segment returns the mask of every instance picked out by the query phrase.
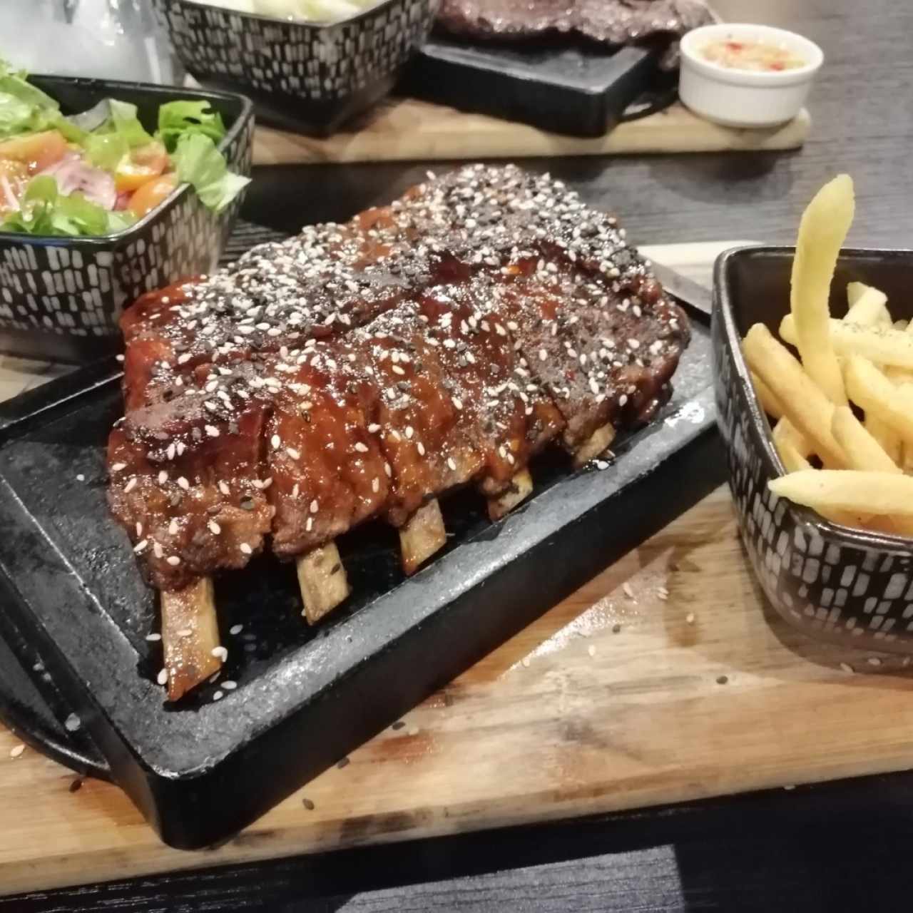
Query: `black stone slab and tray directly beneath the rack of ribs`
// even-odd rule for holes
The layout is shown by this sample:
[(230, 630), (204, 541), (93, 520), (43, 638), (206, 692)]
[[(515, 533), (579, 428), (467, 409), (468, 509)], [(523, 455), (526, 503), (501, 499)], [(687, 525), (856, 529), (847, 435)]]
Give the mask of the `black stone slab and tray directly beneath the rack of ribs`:
[(316, 629), (289, 565), (264, 557), (217, 582), (238, 682), (217, 703), (217, 684), (169, 706), (154, 683), (154, 594), (105, 501), (117, 362), (0, 406), (0, 659), (18, 661), (0, 665), (0, 712), (121, 785), (166, 843), (235, 833), (719, 484), (708, 313), (687, 308), (676, 394), (609, 467), (543, 456), (533, 497), (495, 524), (471, 494), (445, 498), (446, 550), (409, 580), (392, 530), (354, 530), (339, 540), (352, 598)]

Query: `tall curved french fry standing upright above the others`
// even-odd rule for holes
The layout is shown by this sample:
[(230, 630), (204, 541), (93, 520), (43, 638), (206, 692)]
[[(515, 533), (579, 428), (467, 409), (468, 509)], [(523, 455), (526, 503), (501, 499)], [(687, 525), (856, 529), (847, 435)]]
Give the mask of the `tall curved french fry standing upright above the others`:
[(805, 208), (792, 260), (790, 310), (796, 347), (809, 377), (837, 405), (846, 404), (846, 394), (828, 329), (828, 299), (854, 209), (853, 181), (848, 174), (824, 184)]

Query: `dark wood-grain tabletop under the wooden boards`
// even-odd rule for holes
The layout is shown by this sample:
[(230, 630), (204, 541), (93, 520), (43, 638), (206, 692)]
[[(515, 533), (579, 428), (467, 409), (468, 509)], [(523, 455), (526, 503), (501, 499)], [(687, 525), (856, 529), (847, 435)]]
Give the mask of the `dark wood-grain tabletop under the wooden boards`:
[[(803, 206), (853, 175), (858, 246), (913, 244), (913, 4), (718, 0), (729, 21), (813, 38), (826, 64), (795, 153), (533, 161), (624, 215), (640, 243), (792, 240)], [(245, 215), (344, 218), (425, 166), (260, 169)], [(913, 283), (911, 283), (913, 285)], [(913, 290), (911, 290), (913, 293)], [(0, 812), (2, 821), (2, 812)], [(879, 910), (908, 907), (913, 776), (767, 792), (599, 820), (0, 899), (0, 911)]]

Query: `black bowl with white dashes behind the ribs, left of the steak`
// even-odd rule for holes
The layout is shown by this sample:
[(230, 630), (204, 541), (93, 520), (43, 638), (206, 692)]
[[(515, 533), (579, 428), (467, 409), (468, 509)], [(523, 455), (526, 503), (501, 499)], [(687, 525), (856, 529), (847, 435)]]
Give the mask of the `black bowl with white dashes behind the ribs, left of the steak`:
[(194, 0), (155, 0), (184, 68), (206, 85), (244, 92), (257, 118), (328, 135), (393, 89), (431, 33), (440, 0), (383, 0), (320, 24), (239, 13)]

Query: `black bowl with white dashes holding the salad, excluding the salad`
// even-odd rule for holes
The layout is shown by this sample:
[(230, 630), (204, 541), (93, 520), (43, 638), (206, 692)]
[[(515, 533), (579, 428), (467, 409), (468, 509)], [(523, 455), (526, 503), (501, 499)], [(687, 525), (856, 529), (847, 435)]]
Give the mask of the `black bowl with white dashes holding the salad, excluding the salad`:
[[(110, 79), (31, 78), (64, 113), (115, 98), (138, 108), (154, 131), (159, 106), (205, 100), (225, 121), (229, 167), (249, 174), (253, 106), (239, 95)], [(81, 362), (120, 344), (121, 312), (144, 292), (215, 267), (244, 194), (216, 215), (187, 184), (127, 231), (105, 237), (0, 232), (0, 352)]]

